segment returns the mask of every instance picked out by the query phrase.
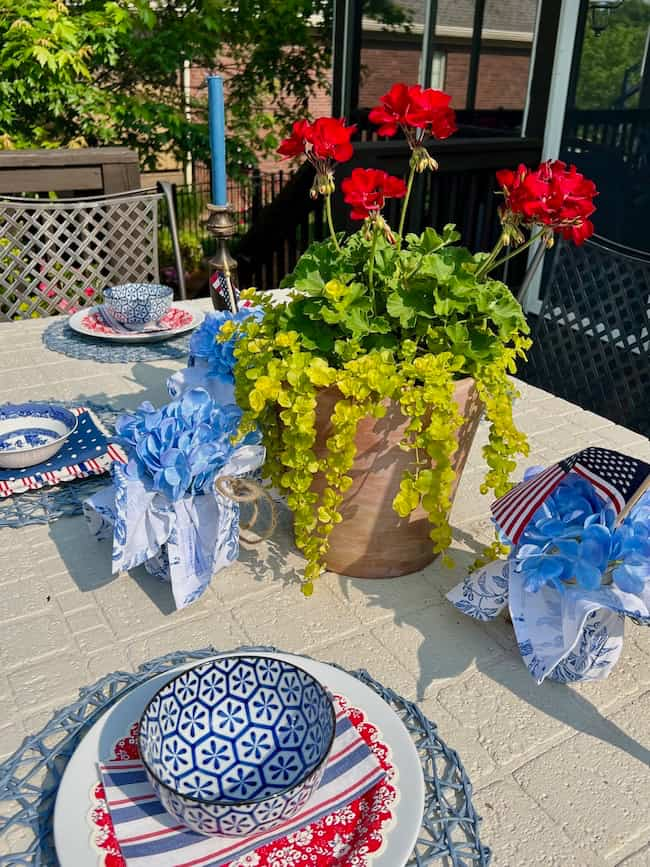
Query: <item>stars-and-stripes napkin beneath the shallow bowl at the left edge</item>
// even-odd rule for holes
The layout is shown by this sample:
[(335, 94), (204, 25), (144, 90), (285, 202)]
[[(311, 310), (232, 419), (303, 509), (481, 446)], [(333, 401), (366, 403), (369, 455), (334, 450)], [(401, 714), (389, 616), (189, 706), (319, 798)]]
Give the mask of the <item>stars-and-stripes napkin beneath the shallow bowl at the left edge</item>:
[[(73, 434), (68, 441), (70, 448), (66, 451), (66, 446), (68, 445), (66, 444), (62, 449), (64, 455), (67, 452), (74, 454), (72, 449), (75, 445), (78, 446), (81, 451), (81, 449), (83, 449), (84, 436), (87, 438), (89, 434), (95, 432), (98, 435), (98, 439), (100, 435), (104, 438), (107, 436), (97, 419), (86, 409), (86, 407), (73, 407), (71, 411), (74, 412), (76, 416), (80, 417), (80, 426), (77, 429), (77, 432)], [(84, 428), (87, 429), (87, 433), (85, 434)], [(74, 437), (77, 436), (79, 437), (79, 440), (74, 439)], [(57, 455), (52, 458), (51, 461), (48, 461), (46, 466), (50, 463), (55, 464), (55, 466), (52, 466), (49, 470), (45, 469), (42, 465), (38, 465), (30, 467), (29, 470), (24, 470), (23, 472), (20, 470), (1, 471), (0, 498), (10, 497), (13, 494), (22, 494), (25, 491), (36, 491), (39, 488), (58, 485), (61, 482), (69, 482), (75, 479), (86, 479), (89, 476), (101, 475), (110, 470), (114, 461), (126, 463), (125, 453), (118, 445), (111, 442), (106, 443), (101, 453), (97, 456), (92, 458), (86, 457), (84, 460), (79, 460), (77, 463), (61, 464), (60, 461), (57, 460), (58, 457), (59, 456)]]

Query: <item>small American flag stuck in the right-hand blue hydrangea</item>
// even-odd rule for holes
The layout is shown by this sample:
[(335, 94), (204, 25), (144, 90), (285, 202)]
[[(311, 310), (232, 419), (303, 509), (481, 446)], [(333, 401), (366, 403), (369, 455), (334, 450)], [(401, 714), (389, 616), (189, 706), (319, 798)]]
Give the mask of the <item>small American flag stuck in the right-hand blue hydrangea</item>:
[(650, 480), (650, 464), (611, 449), (588, 448), (570, 455), (543, 472), (521, 482), (492, 503), (497, 526), (516, 545), (526, 525), (544, 500), (569, 473), (577, 473), (596, 489), (617, 515)]

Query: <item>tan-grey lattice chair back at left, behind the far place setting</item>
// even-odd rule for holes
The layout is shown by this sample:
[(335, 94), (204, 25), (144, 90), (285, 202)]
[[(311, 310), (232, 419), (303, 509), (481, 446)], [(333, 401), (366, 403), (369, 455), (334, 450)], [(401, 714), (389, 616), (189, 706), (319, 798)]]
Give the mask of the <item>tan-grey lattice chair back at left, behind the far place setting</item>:
[(168, 191), (56, 201), (0, 197), (0, 321), (69, 313), (106, 286), (157, 283), (158, 208), (168, 200), (177, 272), (182, 263)]

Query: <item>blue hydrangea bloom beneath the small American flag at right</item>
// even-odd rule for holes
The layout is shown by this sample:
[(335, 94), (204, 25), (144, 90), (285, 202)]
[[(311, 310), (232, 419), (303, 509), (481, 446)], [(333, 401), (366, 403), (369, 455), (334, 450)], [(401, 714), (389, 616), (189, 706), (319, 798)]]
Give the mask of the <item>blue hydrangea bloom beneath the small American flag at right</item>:
[[(536, 470), (529, 471), (530, 478)], [(533, 515), (511, 554), (526, 590), (567, 582), (596, 590), (605, 576), (620, 590), (639, 593), (650, 580), (650, 494), (619, 527), (614, 510), (594, 487), (568, 475)]]

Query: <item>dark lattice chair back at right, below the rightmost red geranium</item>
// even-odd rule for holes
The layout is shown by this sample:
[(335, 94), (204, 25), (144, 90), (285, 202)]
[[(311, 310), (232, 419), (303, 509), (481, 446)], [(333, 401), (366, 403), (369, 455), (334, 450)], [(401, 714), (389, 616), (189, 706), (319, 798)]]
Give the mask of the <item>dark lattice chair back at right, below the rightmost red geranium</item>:
[(522, 378), (650, 435), (650, 254), (559, 243)]

